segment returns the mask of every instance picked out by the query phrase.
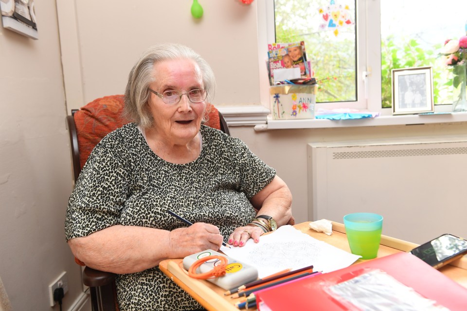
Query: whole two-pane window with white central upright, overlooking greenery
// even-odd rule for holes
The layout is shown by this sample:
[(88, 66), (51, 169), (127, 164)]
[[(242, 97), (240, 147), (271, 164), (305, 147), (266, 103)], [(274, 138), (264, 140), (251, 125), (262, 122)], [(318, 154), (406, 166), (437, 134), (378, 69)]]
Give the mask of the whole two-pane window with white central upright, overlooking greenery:
[[(341, 28), (339, 35), (319, 30), (323, 21), (319, 9), (331, 2), (349, 7), (354, 27)], [(466, 35), (467, 1), (266, 3), (268, 43), (305, 41), (307, 58), (321, 85), (318, 108), (348, 107), (390, 115), (391, 109), (382, 108), (390, 107), (392, 102), (391, 69), (422, 66), (433, 67), (435, 104), (452, 103), (452, 73), (439, 49), (446, 39)], [(450, 105), (443, 106), (450, 111)], [(441, 105), (438, 108), (443, 109)]]

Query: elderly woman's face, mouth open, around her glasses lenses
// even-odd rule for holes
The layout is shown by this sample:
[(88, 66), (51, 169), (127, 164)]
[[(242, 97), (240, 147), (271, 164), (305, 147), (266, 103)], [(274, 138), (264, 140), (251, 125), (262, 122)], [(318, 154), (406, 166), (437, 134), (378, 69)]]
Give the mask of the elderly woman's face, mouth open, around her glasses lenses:
[[(162, 94), (165, 91), (188, 93), (204, 88), (198, 65), (189, 59), (166, 60), (154, 65), (154, 81), (149, 88)], [(182, 95), (177, 104), (165, 104), (156, 94), (149, 92), (147, 104), (154, 118), (153, 130), (163, 141), (176, 145), (187, 144), (199, 131), (206, 102), (194, 104)]]

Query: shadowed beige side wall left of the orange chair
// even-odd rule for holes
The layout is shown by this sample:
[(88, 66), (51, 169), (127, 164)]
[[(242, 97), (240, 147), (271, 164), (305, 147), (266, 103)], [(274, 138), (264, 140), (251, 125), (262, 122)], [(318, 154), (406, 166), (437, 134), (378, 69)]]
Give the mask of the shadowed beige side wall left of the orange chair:
[(0, 27), (0, 277), (13, 310), (59, 310), (48, 286), (67, 271), (70, 310), (82, 287), (63, 229), (72, 173), (55, 2), (36, 1), (36, 17), (38, 40)]

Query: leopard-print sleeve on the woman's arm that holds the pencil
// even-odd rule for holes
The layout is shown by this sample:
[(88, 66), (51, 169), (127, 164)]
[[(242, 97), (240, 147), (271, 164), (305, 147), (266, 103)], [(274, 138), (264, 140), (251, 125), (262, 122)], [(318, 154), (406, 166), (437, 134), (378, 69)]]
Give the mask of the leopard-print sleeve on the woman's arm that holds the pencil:
[(88, 158), (68, 202), (67, 241), (119, 223), (129, 174), (116, 154), (101, 141)]

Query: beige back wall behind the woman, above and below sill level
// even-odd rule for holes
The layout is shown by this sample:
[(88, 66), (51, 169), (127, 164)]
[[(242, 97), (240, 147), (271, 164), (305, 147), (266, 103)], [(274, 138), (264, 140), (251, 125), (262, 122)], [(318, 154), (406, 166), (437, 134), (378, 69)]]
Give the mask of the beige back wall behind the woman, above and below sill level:
[[(64, 54), (67, 99), (82, 91), (81, 102), (70, 98), (68, 109), (77, 108), (94, 98), (122, 93), (126, 77), (144, 49), (158, 42), (180, 42), (198, 51), (213, 67), (217, 90), (216, 105), (259, 103), (260, 66), (257, 52), (257, 23), (260, 1), (242, 5), (239, 0), (204, 0), (204, 16), (190, 15), (191, 1), (59, 1), (64, 20), (76, 19), (76, 30), (65, 30), (60, 22)], [(92, 7), (92, 10), (89, 8)], [(106, 17), (106, 18), (104, 18)], [(105, 20), (105, 22), (103, 22)], [(67, 27), (69, 25), (67, 24)], [(260, 40), (261, 39), (261, 40)], [(79, 62), (76, 61), (76, 55)], [(69, 57), (69, 58), (68, 58)], [(266, 55), (265, 55), (266, 58)], [(80, 63), (80, 66), (77, 64)], [(73, 68), (74, 66), (74, 68)], [(67, 83), (82, 77), (82, 84)], [(71, 85), (70, 91), (68, 87)], [(231, 127), (231, 134), (248, 143), (251, 150), (273, 166), (293, 194), (293, 214), (298, 222), (308, 215), (306, 145), (310, 141), (381, 139), (398, 136), (456, 135), (465, 133), (466, 123), (410, 126), (351, 127), (328, 129), (289, 129), (255, 132), (250, 126)]]

